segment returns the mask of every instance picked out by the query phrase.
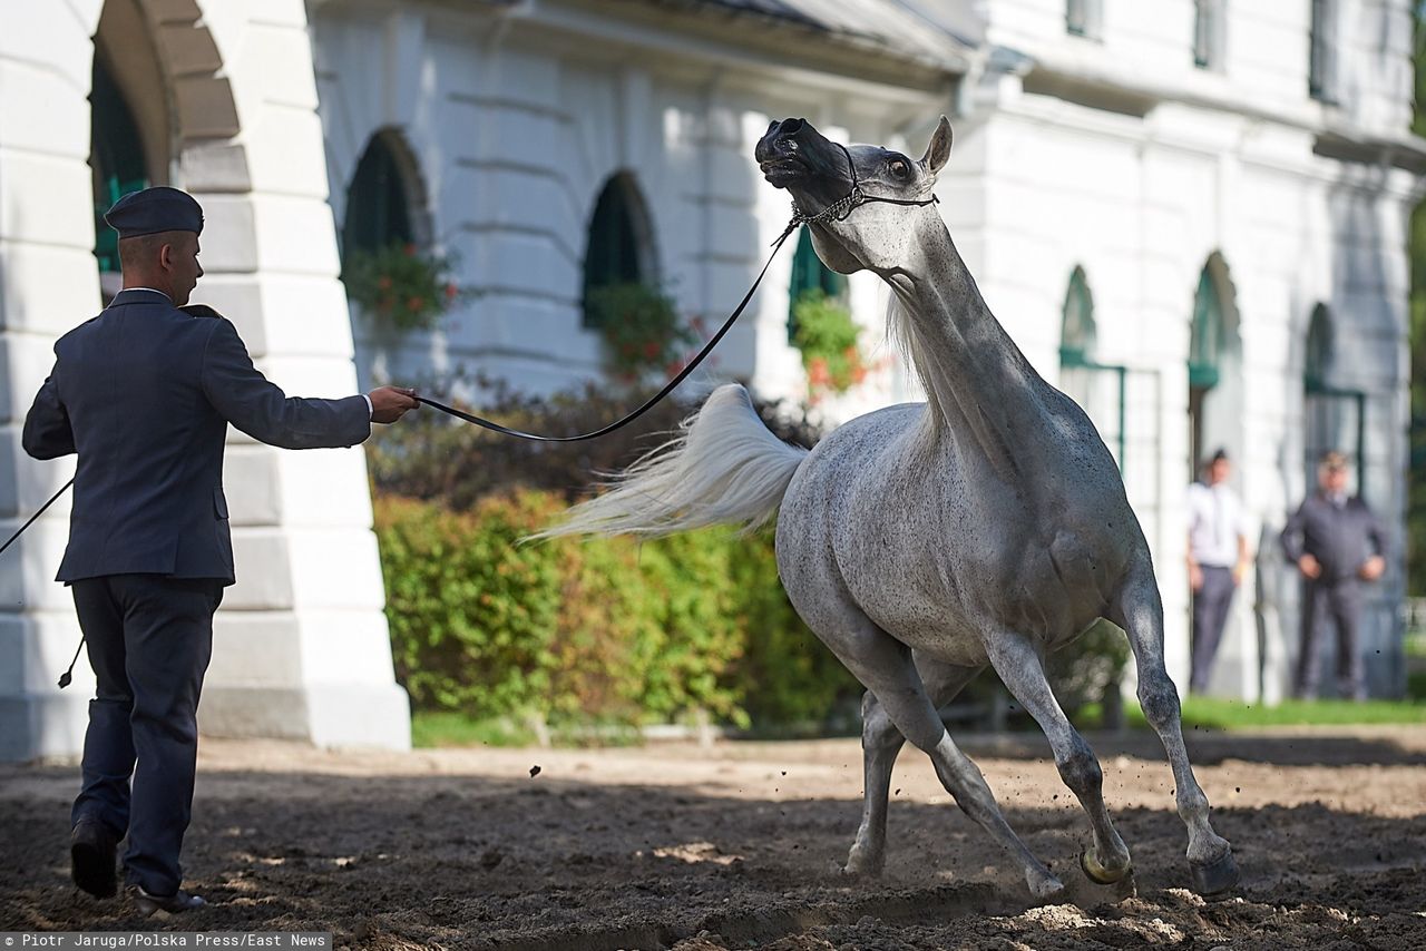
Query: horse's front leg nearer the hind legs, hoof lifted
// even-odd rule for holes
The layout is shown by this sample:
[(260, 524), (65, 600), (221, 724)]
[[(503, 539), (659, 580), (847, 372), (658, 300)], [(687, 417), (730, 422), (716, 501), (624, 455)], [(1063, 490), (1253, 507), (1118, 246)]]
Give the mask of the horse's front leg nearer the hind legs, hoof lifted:
[(1129, 850), (1114, 830), (1109, 810), (1104, 807), (1104, 773), (1094, 750), (1070, 724), (1070, 717), (1055, 700), (1040, 654), (1021, 634), (992, 634), (987, 639), (985, 649), (1005, 687), (1045, 731), (1060, 778), (1089, 817), (1094, 848), (1085, 850), (1079, 857), (1085, 874), (1102, 885), (1119, 881), (1129, 873)]

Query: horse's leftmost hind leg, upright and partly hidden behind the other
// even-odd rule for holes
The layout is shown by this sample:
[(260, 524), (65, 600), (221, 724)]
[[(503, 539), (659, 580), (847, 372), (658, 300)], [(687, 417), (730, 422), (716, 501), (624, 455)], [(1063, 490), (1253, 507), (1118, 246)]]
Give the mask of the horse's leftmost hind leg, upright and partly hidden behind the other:
[[(955, 699), (980, 667), (960, 667), (915, 653), (915, 670), (931, 703), (940, 710)], [(861, 767), (864, 778), (861, 827), (847, 854), (847, 871), (874, 875), (886, 864), (887, 798), (891, 793), (891, 767), (906, 737), (891, 723), (886, 707), (867, 690), (861, 697)]]

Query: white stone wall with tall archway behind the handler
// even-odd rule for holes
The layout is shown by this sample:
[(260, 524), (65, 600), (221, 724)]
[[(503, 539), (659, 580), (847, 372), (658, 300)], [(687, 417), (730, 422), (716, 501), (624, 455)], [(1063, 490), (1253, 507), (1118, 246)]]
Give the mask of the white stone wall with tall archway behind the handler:
[[(0, 40), (0, 530), (71, 471), (24, 456), (19, 426), (54, 338), (100, 308), (86, 101), (100, 9), (39, 4)], [(144, 9), (181, 137), (174, 184), (207, 217), (195, 299), (232, 319), (288, 392), (356, 392), (301, 0)], [(230, 431), (225, 485), (240, 580), (215, 619), (201, 729), (408, 747), (361, 449), (278, 452)], [(93, 676), (81, 662), (68, 690), (53, 686), (78, 642), (51, 580), (66, 536), (61, 503), (0, 566), (0, 759), (83, 741)]]

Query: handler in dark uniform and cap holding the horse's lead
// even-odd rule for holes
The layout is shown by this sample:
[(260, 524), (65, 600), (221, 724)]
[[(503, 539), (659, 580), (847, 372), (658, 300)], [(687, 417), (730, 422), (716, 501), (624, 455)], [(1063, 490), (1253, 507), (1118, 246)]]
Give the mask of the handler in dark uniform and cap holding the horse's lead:
[(195, 710), (212, 612), (234, 580), (228, 423), (288, 449), (351, 446), (372, 421), (395, 422), (416, 401), (392, 386), (298, 399), (268, 382), (232, 324), (184, 307), (202, 277), (202, 210), (183, 191), (125, 195), (106, 221), (120, 235), (124, 289), (54, 345), (23, 441), (37, 459), (78, 453), (57, 580), (73, 589), (97, 694), (71, 811), (74, 881), (113, 895), (116, 843), (127, 833), (125, 878), (140, 911), (184, 911), (204, 904), (180, 888), (178, 864)]

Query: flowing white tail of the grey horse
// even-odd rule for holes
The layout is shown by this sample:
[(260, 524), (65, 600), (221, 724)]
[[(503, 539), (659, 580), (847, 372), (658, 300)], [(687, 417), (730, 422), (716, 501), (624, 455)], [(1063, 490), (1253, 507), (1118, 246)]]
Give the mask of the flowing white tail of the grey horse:
[(706, 525), (767, 522), (807, 451), (774, 436), (747, 391), (719, 386), (683, 433), (615, 475), (603, 495), (568, 512), (533, 538), (556, 535), (673, 535)]

